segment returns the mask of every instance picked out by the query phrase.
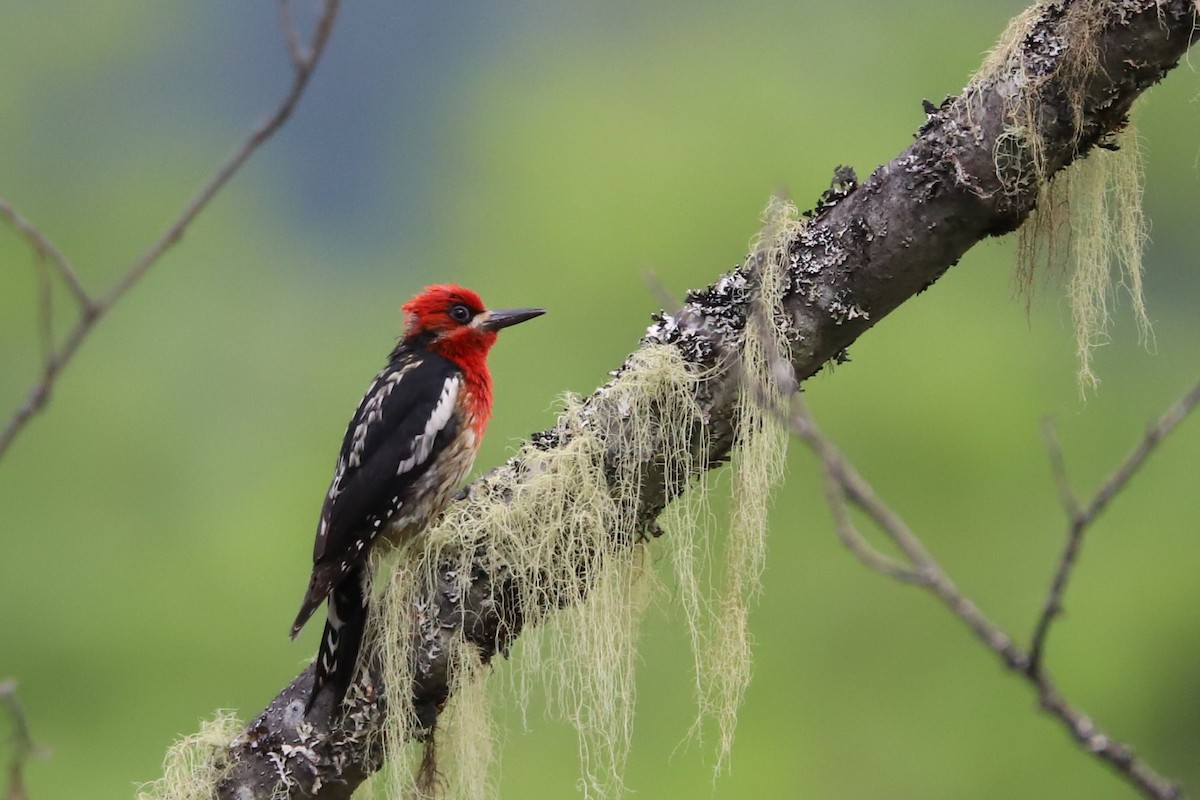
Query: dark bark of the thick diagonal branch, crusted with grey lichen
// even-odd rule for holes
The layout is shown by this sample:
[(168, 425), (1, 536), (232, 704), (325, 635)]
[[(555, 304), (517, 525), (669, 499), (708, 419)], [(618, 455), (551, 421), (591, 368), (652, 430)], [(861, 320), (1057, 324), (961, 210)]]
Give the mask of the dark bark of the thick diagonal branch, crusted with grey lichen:
[[(1088, 23), (1080, 25), (1079, 14), (1072, 12), (1084, 6)], [(1193, 0), (1038, 6), (1025, 19), (1016, 44), (1022, 52), (1019, 71), (1008, 60), (989, 64), (971, 91), (928, 107), (916, 142), (864, 184), (840, 170), (811, 218), (790, 231), (786, 242), (782, 308), (790, 318), (797, 377), (803, 380), (838, 357), (866, 329), (929, 288), (973, 245), (1020, 227), (1045, 182), (1120, 131), (1134, 100), (1176, 65), (1192, 43), (1196, 13)], [(1096, 58), (1070, 56), (1082, 52)], [(1038, 80), (1030, 82), (1030, 71)], [(1022, 119), (1037, 131), (1025, 140), (1037, 142), (1037, 152), (1022, 150), (1021, 139), (1012, 136), (1012, 97), (1028, 86), (1033, 89), (1022, 97)], [(1004, 164), (1009, 172), (997, 170), (1001, 151), (1015, 163), (1036, 164), (1034, 178), (1013, 181), (1012, 161)], [(706, 465), (727, 461), (737, 438), (738, 371), (727, 368), (725, 359), (739, 351), (757, 302), (756, 261), (751, 258), (707, 289), (691, 293), (683, 308), (664, 315), (643, 339), (643, 348), (673, 348), (695, 374), (704, 377), (696, 384), (698, 411), (686, 438), (703, 451), (698, 455)], [(584, 429), (601, 432), (610, 447), (619, 446), (623, 410), (616, 393), (613, 384), (596, 390), (577, 411), (583, 428), (535, 434), (524, 452), (560, 452)], [(637, 458), (643, 469), (630, 512), (652, 530), (684, 487), (673, 480), (664, 453), (637, 453)], [(620, 452), (605, 456), (610, 464), (629, 459)], [(472, 497), (512, 497), (536, 477), (545, 461), (514, 459), (478, 481)], [(612, 489), (620, 493), (629, 487), (614, 475)], [(515, 585), (511, 576), (493, 575), (486, 552), (461, 557), (445, 560), (428, 578), (422, 610), (415, 615), (418, 728), (432, 727), (450, 696), (451, 667), (462, 652), (454, 643), (466, 639), (480, 660), (488, 661), (521, 633), (533, 610), (521, 607), (520, 599), (530, 596), (528, 588)], [(580, 599), (545, 600), (568, 604)], [(301, 673), (234, 740), (226, 752), (221, 798), (347, 798), (379, 768), (383, 751), (377, 734), (385, 711), (378, 694), (359, 693), (336, 726), (310, 724), (301, 709), (311, 680), (310, 670)]]

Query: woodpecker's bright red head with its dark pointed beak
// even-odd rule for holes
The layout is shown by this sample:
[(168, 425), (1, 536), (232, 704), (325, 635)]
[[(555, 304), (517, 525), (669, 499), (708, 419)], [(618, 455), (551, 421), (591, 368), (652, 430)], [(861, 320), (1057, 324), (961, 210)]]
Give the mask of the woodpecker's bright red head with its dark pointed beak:
[(466, 371), (486, 369), (487, 351), (502, 327), (546, 313), (545, 308), (488, 311), (470, 289), (427, 287), (404, 303), (404, 343), (420, 344)]

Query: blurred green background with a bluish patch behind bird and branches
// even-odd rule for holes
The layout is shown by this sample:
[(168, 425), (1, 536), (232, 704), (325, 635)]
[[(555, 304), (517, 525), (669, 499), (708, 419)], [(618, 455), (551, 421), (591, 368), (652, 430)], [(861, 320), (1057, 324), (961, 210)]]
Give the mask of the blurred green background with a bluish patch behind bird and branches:
[[(673, 293), (732, 266), (772, 192), (902, 149), (1021, 2), (346, 4), (295, 119), (88, 341), (0, 461), (0, 678), (36, 800), (128, 798), (214, 709), (253, 716), (316, 648), (287, 638), (348, 419), (428, 282), (551, 313), (505, 335), (479, 468), (547, 426)], [(312, 4), (300, 2), (311, 12)], [(0, 197), (92, 290), (281, 95), (276, 5), (7, 0)], [(1013, 296), (985, 242), (808, 384), (820, 422), (997, 622), (1027, 640), (1064, 534), (1039, 439), (1091, 491), (1200, 377), (1194, 70), (1142, 101), (1147, 353), (1122, 297), (1075, 384), (1061, 287)], [(38, 369), (28, 248), (0, 230), (0, 409)], [(65, 330), (68, 300), (59, 294)], [(1069, 698), (1200, 790), (1200, 425), (1096, 527), (1050, 642)], [(930, 597), (860, 567), (799, 446), (751, 621), (732, 770), (679, 746), (680, 612), (646, 620), (635, 796), (1130, 798)], [(662, 560), (662, 559), (660, 559)], [(664, 564), (664, 573), (667, 565)], [(500, 664), (499, 670), (509, 669)], [(502, 705), (504, 796), (576, 795), (574, 734)], [(2, 727), (0, 727), (2, 730)]]

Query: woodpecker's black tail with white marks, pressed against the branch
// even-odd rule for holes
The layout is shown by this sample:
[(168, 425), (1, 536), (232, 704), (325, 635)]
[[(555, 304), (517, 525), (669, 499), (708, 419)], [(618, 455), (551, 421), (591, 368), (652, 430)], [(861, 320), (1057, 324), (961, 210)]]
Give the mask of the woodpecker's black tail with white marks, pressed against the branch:
[(331, 708), (336, 711), (354, 680), (354, 667), (367, 625), (365, 579), (366, 567), (359, 564), (346, 573), (329, 595), (329, 615), (325, 619), (325, 631), (320, 634), (312, 693), (308, 694), (305, 714), (312, 710), (317, 696), (326, 687), (334, 693)]

